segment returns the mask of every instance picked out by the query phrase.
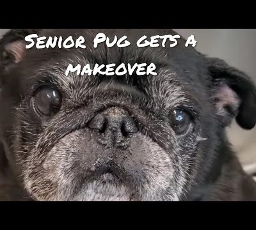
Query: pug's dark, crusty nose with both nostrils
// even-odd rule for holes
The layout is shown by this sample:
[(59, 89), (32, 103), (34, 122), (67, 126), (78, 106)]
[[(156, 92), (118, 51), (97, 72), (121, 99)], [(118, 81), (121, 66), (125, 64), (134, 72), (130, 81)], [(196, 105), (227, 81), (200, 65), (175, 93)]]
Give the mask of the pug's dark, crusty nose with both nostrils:
[(89, 123), (88, 127), (98, 130), (102, 134), (113, 137), (115, 144), (125, 140), (125, 137), (136, 134), (136, 123), (124, 109), (112, 107), (97, 114)]

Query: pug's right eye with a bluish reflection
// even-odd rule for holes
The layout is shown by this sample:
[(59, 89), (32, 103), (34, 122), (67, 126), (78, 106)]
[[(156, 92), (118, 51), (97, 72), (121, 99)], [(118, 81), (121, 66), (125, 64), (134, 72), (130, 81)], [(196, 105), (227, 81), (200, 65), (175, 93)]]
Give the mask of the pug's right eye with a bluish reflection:
[(177, 135), (184, 134), (191, 123), (191, 115), (183, 109), (175, 109), (169, 114), (170, 123)]

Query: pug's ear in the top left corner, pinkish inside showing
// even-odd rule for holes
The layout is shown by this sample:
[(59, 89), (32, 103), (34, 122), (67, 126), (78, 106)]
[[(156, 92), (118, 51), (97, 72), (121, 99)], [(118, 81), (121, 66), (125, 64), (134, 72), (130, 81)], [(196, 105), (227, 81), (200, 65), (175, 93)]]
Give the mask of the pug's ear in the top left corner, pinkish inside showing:
[(11, 29), (0, 40), (0, 68), (6, 71), (22, 61), (26, 44), (24, 38), (40, 29)]

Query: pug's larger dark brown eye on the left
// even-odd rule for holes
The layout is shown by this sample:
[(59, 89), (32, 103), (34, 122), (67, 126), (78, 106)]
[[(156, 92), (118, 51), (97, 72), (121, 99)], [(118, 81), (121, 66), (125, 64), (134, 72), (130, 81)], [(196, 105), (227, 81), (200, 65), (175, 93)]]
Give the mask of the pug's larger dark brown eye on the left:
[(33, 97), (35, 111), (40, 116), (52, 116), (61, 106), (61, 94), (57, 89), (44, 86)]

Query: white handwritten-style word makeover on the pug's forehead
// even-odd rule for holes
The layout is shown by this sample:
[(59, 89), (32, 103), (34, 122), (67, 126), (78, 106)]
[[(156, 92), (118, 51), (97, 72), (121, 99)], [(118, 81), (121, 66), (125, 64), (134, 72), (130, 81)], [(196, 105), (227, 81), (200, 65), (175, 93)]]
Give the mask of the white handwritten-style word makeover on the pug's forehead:
[(127, 64), (125, 65), (122, 63), (121, 65), (116, 66), (115, 63), (109, 64), (109, 65), (99, 65), (95, 64), (93, 68), (91, 68), (90, 64), (86, 64), (85, 66), (82, 66), (78, 64), (77, 66), (73, 66), (72, 64), (68, 65), (68, 68), (65, 72), (66, 76), (70, 72), (74, 73), (76, 72), (77, 75), (83, 76), (84, 74), (86, 75), (107, 75), (107, 76), (113, 76), (113, 75), (125, 75), (129, 74), (132, 75), (133, 73), (136, 72), (136, 75), (157, 75), (156, 72), (156, 65), (154, 63), (150, 63), (150, 65), (147, 65), (146, 63), (135, 63), (134, 65)]

